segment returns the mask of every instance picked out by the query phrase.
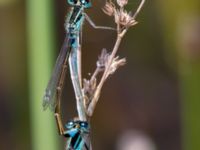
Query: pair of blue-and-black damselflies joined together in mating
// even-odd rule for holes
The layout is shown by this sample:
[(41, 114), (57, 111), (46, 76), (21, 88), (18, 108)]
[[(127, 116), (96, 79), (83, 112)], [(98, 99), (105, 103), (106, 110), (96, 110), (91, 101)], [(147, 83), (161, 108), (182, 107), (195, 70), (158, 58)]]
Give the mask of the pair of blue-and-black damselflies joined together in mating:
[[(81, 87), (81, 34), (83, 21), (86, 19), (94, 28), (111, 29), (110, 27), (96, 26), (84, 9), (91, 7), (90, 0), (67, 0), (71, 10), (67, 16), (65, 29), (66, 37), (62, 45), (60, 54), (48, 83), (43, 98), (44, 109), (50, 108), (54, 111), (59, 133), (67, 137), (66, 150), (91, 150), (89, 138), (90, 127), (84, 111), (83, 94)], [(75, 91), (78, 120), (70, 121), (64, 128), (61, 120), (61, 94), (69, 64), (71, 80)]]

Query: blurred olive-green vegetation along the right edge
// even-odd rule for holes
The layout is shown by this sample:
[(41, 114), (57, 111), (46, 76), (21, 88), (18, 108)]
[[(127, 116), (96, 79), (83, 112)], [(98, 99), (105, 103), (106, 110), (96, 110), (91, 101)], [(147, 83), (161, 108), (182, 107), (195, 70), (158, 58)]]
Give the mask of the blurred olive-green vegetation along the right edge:
[(179, 70), (182, 149), (197, 150), (200, 149), (200, 38), (197, 36), (200, 35), (200, 1), (158, 2), (164, 23), (167, 60), (173, 62), (171, 66), (177, 62)]

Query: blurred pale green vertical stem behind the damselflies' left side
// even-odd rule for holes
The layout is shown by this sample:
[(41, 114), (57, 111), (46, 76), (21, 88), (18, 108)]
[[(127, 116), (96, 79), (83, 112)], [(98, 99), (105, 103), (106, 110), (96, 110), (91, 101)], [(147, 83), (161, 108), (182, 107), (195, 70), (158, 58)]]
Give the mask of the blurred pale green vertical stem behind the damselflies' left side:
[(29, 91), (33, 150), (56, 150), (53, 114), (42, 109), (42, 97), (51, 73), (55, 50), (53, 0), (27, 1)]

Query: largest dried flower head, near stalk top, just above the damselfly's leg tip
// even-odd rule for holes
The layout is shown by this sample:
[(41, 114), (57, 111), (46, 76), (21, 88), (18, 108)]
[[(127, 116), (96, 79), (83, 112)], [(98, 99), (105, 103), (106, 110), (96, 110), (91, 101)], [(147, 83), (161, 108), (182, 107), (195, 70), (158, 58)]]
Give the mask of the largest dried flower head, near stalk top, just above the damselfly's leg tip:
[(126, 10), (116, 11), (115, 22), (125, 27), (130, 27), (137, 24), (137, 21)]

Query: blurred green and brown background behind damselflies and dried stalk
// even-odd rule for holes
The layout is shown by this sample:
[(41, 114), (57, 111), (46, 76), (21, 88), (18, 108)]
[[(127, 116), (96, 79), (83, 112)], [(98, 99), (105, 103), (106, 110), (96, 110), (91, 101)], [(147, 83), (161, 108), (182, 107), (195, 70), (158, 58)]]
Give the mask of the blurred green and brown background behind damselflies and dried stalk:
[[(105, 0), (87, 10), (114, 26)], [(139, 1), (129, 0), (128, 10)], [(0, 0), (0, 149), (64, 149), (42, 95), (65, 35), (65, 0)], [(200, 150), (200, 1), (147, 0), (119, 50), (127, 64), (105, 84), (91, 120), (95, 150)], [(83, 31), (83, 74), (89, 77), (115, 33)], [(69, 75), (63, 120), (76, 115)]]

